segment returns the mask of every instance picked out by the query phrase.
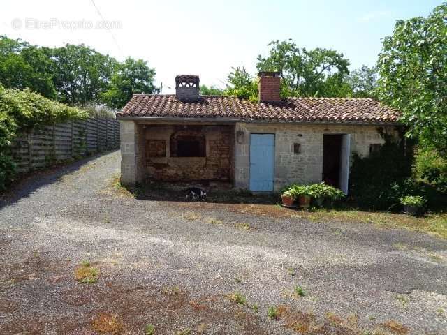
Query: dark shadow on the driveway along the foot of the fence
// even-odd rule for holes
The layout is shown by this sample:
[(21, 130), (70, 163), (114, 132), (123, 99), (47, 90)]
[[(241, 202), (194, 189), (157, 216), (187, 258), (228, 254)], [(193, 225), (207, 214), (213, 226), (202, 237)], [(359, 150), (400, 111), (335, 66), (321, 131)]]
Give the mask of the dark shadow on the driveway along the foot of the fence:
[(36, 170), (19, 174), (13, 186), (11, 186), (7, 191), (0, 193), (0, 209), (29, 196), (34, 191), (38, 190), (38, 188), (56, 183), (64, 175), (75, 172), (82, 168), (83, 165), (94, 161), (101, 156), (108, 155), (111, 152), (114, 151), (104, 151), (100, 154), (82, 158), (73, 163), (65, 163), (52, 166), (45, 170)]

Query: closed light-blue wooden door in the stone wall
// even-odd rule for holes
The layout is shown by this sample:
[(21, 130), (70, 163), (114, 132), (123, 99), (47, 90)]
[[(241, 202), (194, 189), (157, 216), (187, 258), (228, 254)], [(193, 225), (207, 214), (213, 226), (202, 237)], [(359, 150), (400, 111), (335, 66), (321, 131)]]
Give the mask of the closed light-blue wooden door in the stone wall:
[(273, 191), (274, 134), (250, 135), (250, 190)]

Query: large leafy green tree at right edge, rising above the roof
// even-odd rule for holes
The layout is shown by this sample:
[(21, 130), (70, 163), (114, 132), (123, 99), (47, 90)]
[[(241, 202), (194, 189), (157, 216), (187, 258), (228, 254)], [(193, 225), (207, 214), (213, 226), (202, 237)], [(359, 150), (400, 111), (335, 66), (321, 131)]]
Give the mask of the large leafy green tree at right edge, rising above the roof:
[(447, 3), (398, 21), (379, 54), (381, 100), (403, 112), (407, 135), (447, 154)]

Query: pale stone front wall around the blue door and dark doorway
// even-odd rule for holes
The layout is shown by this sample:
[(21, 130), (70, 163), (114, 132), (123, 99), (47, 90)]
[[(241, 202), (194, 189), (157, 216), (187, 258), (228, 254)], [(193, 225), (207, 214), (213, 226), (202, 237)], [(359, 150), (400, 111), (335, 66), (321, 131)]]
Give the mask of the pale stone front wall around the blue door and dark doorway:
[[(383, 144), (376, 126), (315, 124), (235, 125), (235, 187), (249, 187), (250, 133), (273, 133), (274, 190), (292, 182), (321, 181), (323, 173), (323, 135), (351, 134), (351, 154), (369, 155), (369, 144)], [(294, 144), (300, 144), (295, 153)]]

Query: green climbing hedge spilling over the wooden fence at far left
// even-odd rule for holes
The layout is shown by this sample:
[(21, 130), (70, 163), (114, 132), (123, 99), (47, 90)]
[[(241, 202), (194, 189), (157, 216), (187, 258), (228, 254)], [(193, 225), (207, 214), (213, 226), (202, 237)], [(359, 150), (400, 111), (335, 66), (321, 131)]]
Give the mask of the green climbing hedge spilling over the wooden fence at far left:
[(0, 86), (0, 190), (15, 178), (10, 144), (17, 134), (45, 124), (85, 117), (86, 112), (44, 98), (29, 89), (21, 91)]

